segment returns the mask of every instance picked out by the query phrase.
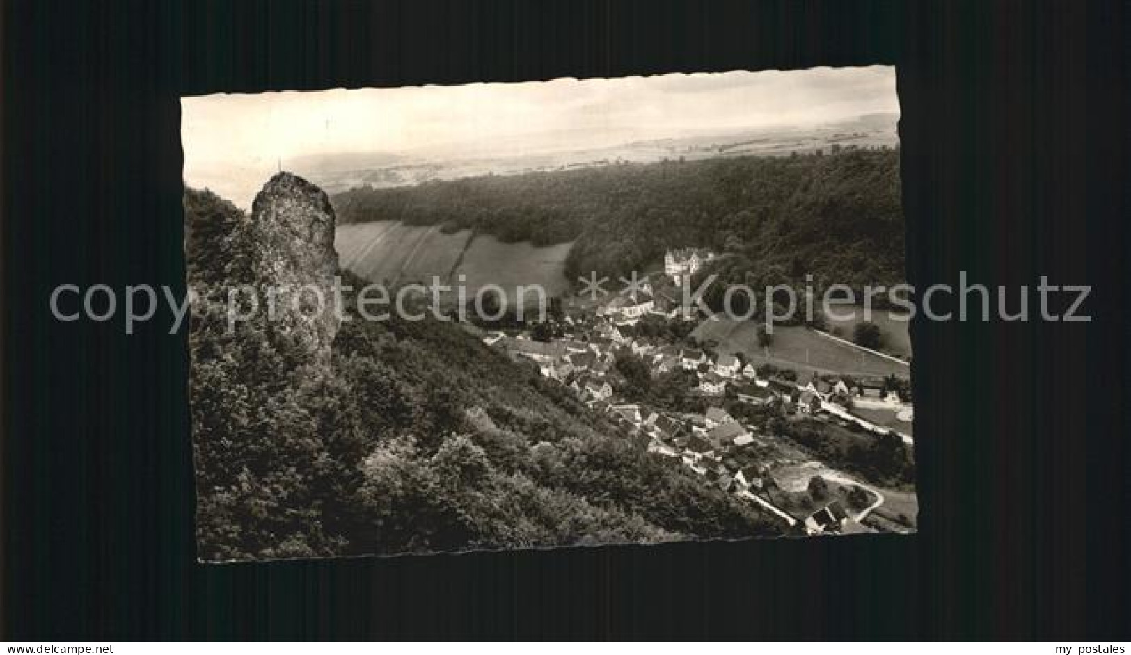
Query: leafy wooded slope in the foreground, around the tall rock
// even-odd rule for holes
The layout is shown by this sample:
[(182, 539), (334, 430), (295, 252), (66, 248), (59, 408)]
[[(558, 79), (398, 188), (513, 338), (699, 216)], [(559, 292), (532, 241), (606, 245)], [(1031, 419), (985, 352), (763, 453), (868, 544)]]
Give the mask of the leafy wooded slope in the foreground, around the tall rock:
[(279, 253), (210, 192), (184, 206), (202, 559), (778, 532), (457, 325), (345, 320), (325, 356), (266, 320), (227, 333), (225, 285)]

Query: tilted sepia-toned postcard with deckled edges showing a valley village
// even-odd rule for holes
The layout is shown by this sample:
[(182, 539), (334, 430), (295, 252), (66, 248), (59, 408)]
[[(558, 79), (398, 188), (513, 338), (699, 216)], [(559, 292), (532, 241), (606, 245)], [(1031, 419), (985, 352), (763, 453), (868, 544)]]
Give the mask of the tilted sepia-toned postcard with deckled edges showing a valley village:
[(916, 530), (893, 68), (181, 105), (201, 560)]

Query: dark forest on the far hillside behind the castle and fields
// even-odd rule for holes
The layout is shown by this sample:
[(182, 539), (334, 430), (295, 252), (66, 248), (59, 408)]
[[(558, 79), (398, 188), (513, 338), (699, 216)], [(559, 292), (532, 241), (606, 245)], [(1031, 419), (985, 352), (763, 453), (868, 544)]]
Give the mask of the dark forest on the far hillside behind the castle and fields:
[(340, 220), (470, 228), (537, 245), (578, 239), (567, 278), (623, 274), (667, 248), (733, 255), (722, 276), (756, 289), (903, 282), (898, 150), (845, 149), (361, 187), (334, 198)]

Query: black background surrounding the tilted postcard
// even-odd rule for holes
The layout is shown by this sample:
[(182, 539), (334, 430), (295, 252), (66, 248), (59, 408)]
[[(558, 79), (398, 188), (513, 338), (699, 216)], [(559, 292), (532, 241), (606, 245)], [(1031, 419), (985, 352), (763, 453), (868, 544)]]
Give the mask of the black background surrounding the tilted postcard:
[[(1126, 5), (57, 2), (3, 11), (9, 639), (1128, 638)], [(200, 566), (184, 335), (58, 283), (183, 291), (179, 104), (896, 63), (909, 279), (1095, 285), (1089, 324), (918, 324), (912, 538)]]

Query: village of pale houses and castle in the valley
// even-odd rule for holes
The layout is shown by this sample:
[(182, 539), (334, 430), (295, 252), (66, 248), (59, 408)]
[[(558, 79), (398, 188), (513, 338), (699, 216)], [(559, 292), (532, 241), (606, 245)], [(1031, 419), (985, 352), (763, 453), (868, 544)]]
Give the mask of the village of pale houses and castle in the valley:
[[(702, 248), (670, 251), (663, 279), (679, 285), (713, 256)], [(914, 515), (908, 514), (917, 506), (899, 513), (898, 519), (877, 512), (886, 498), (909, 497), (914, 503), (914, 492), (878, 489), (772, 434), (775, 426), (789, 425), (783, 421), (808, 420), (874, 439), (893, 435), (910, 447), (909, 434), (856, 413), (891, 412), (909, 425), (913, 404), (906, 381), (798, 376), (788, 368), (756, 366), (742, 352), (719, 352), (688, 337), (646, 334), (655, 331), (639, 329), (641, 323), (680, 321), (679, 312), (670, 295), (647, 280), (633, 291), (601, 304), (570, 303), (552, 331), (497, 330), (483, 333), (482, 340), (518, 361), (533, 363), (542, 376), (570, 388), (649, 452), (758, 504), (791, 534), (914, 529)], [(649, 378), (680, 381), (680, 407), (661, 407), (633, 393), (625, 360), (642, 363)]]

